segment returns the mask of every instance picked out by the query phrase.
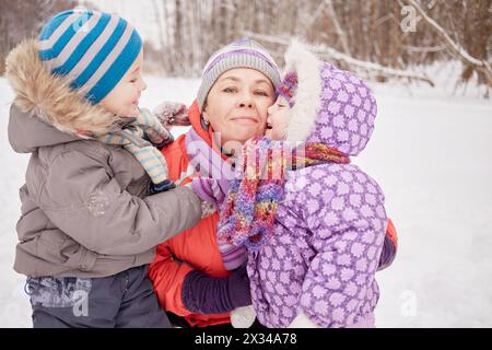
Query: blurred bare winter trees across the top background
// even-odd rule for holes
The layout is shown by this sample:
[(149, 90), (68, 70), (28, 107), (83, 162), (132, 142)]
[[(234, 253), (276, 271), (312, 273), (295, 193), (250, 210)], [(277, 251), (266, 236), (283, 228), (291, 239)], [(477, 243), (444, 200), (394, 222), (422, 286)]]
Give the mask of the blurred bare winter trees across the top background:
[[(385, 72), (370, 74), (379, 81), (406, 80), (411, 70), (420, 71), (419, 80), (426, 81), (422, 75), (426, 66), (457, 59), (450, 42), (470, 57), (491, 62), (492, 0), (413, 2), (440, 30), (408, 0), (141, 0), (136, 5), (145, 7), (145, 1), (149, 23), (156, 28), (155, 37), (148, 39), (161, 50), (151, 56), (168, 75), (199, 75), (215, 49), (251, 33), (280, 38), (262, 42), (280, 66), (285, 40), (297, 36), (342, 54), (331, 57), (342, 57), (333, 59), (344, 69), (354, 69), (351, 65), (356, 62), (355, 67)], [(0, 0), (0, 72), (15, 43), (36, 33), (50, 14), (75, 3)], [(83, 3), (90, 7), (87, 1)], [(131, 9), (133, 4), (126, 5)], [(410, 30), (403, 24), (411, 24)], [(478, 83), (490, 83), (483, 69), (461, 61), (464, 81), (477, 74)]]

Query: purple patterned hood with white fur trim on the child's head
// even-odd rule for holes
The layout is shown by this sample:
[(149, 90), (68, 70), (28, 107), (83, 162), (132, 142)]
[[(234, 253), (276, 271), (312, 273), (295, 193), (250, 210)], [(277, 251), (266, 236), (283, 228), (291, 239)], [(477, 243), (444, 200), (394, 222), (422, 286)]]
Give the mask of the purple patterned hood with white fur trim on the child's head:
[(353, 73), (319, 60), (298, 42), (285, 52), (284, 72), (296, 72), (298, 82), (286, 140), (321, 142), (358, 155), (371, 138), (377, 113), (370, 88)]

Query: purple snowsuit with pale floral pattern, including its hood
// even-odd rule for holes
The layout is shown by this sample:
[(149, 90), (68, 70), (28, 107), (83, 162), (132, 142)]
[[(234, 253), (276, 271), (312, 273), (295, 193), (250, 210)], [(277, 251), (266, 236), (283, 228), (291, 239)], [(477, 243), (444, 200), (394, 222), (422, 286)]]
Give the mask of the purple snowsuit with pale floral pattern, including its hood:
[[(326, 62), (318, 68), (317, 89), (297, 71), (293, 119), (312, 124), (305, 141), (355, 156), (374, 129), (375, 98), (352, 73)], [(298, 100), (306, 90), (319, 96), (312, 116)], [(289, 172), (273, 236), (249, 252), (259, 322), (286, 327), (303, 312), (321, 327), (348, 327), (373, 317), (387, 223), (379, 186), (356, 165), (330, 163)]]

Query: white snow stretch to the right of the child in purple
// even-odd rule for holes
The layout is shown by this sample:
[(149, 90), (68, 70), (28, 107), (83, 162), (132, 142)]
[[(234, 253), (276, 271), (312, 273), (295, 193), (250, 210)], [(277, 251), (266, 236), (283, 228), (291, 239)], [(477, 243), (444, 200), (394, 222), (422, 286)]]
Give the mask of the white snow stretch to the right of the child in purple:
[(358, 163), (382, 185), (400, 244), (377, 277), (377, 325), (490, 327), (492, 105), (376, 94), (376, 130)]

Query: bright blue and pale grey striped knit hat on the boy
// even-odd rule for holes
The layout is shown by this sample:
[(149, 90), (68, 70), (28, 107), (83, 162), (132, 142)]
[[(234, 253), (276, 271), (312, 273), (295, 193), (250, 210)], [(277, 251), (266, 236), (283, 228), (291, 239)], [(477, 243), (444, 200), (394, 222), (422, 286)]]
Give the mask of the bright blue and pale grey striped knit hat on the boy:
[(39, 58), (52, 74), (67, 75), (85, 98), (101, 102), (142, 48), (133, 26), (116, 14), (73, 9), (60, 12), (39, 34)]

